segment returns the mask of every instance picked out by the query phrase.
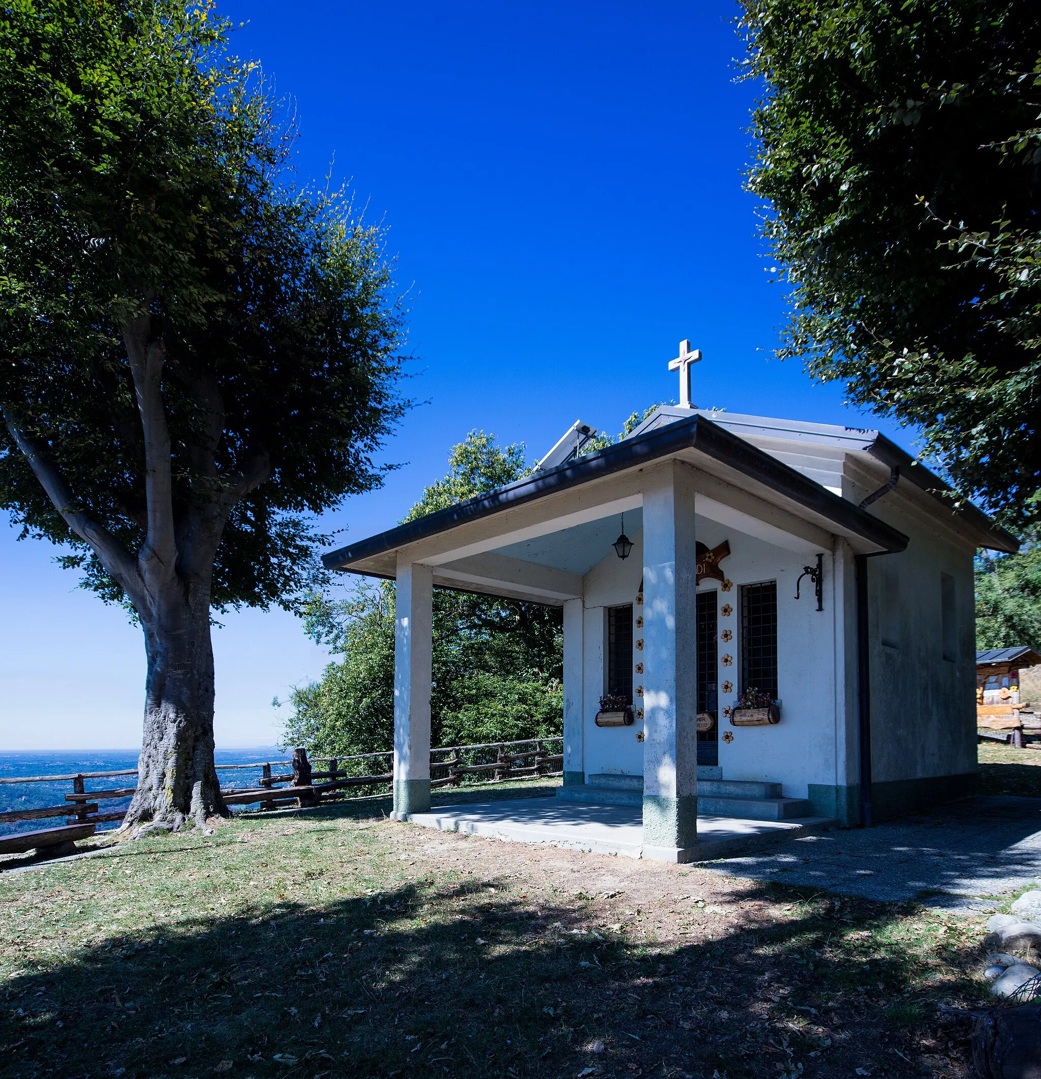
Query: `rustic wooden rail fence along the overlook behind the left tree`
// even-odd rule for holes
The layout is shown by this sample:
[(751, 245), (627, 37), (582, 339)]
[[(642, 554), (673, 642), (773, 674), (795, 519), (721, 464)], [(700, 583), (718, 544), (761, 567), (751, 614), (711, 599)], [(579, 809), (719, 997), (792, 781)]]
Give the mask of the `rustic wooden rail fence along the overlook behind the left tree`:
[[(507, 779), (536, 776), (559, 776), (563, 764), (561, 752), (550, 752), (563, 739), (531, 738), (512, 742), (485, 742), (480, 746), (447, 746), (430, 751), (430, 787), (460, 787), (464, 783), (503, 782)], [(261, 809), (285, 808), (290, 803), (315, 806), (323, 802), (365, 795), (385, 795), (393, 783), (391, 771), (394, 751), (358, 753), (344, 757), (307, 759), (307, 752), (296, 749), (289, 761), (260, 761), (255, 764), (218, 764), (218, 771), (260, 769), (255, 788), (221, 789), (229, 806), (258, 805)], [(312, 764), (325, 764), (316, 771)], [(87, 791), (87, 779), (137, 778), (136, 768), (120, 771), (81, 771), (67, 776), (18, 776), (0, 778), (0, 783), (71, 782), (72, 790), (65, 803), (40, 809), (13, 809), (0, 812), (0, 824), (29, 820), (66, 818), (58, 828), (0, 836), (0, 855), (22, 853), (41, 847), (74, 844), (93, 835), (98, 824), (122, 820), (125, 810), (101, 812), (100, 803), (133, 795), (136, 787), (113, 787)]]

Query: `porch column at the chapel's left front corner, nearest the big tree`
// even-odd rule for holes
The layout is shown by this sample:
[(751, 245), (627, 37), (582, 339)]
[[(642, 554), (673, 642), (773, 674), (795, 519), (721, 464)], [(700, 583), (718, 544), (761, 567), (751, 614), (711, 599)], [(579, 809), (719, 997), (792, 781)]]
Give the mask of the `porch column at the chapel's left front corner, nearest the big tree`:
[(394, 820), (430, 808), (434, 571), (398, 559), (394, 629)]

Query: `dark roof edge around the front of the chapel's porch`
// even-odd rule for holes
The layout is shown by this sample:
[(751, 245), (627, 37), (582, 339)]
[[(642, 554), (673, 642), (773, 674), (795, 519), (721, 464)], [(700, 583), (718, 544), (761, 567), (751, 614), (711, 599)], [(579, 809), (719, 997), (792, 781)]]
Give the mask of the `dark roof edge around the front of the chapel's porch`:
[(510, 506), (523, 505), (557, 491), (650, 464), (688, 448), (737, 468), (889, 551), (900, 551), (907, 546), (907, 536), (885, 521), (833, 494), (743, 438), (731, 435), (703, 416), (695, 415), (341, 547), (323, 555), (321, 561), (327, 570), (342, 570), (353, 562), (490, 517)]

